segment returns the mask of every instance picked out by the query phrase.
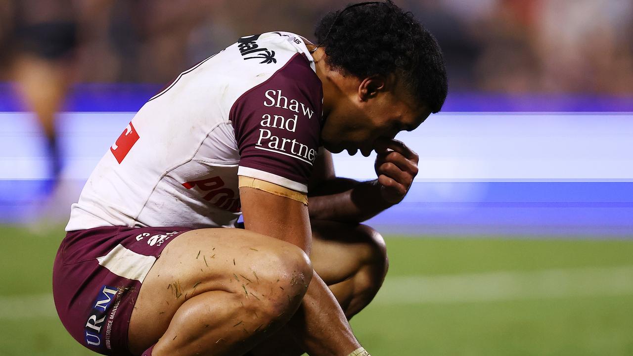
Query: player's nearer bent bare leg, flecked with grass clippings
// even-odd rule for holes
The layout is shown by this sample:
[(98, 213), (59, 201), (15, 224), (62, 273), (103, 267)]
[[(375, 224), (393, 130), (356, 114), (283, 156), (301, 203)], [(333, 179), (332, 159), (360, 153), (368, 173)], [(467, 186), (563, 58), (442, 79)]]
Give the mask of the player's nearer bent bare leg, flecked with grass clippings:
[(143, 281), (130, 351), (155, 343), (154, 356), (241, 355), (288, 321), (311, 276), (303, 251), (284, 241), (241, 229), (184, 232)]

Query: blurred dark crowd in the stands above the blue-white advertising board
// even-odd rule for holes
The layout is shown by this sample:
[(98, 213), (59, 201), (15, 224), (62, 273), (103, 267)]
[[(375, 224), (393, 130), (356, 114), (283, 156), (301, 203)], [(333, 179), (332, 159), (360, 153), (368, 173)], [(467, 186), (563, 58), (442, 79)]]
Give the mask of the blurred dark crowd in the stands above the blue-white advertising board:
[[(28, 76), (39, 56), (63, 65), (66, 82), (168, 82), (242, 35), (287, 30), (310, 39), (320, 16), (347, 3), (0, 0), (1, 79)], [(633, 92), (633, 1), (396, 3), (436, 35), (451, 91)]]

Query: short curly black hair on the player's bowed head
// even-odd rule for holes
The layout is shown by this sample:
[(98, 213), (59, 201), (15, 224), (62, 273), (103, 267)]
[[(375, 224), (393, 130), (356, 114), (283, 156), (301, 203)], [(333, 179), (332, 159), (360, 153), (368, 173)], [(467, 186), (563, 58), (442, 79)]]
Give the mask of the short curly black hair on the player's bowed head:
[(316, 25), (327, 63), (358, 78), (396, 74), (433, 113), (448, 93), (446, 67), (435, 37), (391, 0), (351, 4)]

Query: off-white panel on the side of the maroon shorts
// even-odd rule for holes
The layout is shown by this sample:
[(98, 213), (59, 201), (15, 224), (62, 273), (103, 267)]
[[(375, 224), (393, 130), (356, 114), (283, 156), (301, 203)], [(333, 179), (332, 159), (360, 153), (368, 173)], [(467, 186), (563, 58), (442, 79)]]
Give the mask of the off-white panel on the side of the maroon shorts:
[(127, 279), (135, 279), (141, 283), (152, 268), (156, 257), (141, 255), (132, 250), (128, 250), (123, 245), (116, 245), (108, 255), (97, 258), (99, 264), (116, 276)]

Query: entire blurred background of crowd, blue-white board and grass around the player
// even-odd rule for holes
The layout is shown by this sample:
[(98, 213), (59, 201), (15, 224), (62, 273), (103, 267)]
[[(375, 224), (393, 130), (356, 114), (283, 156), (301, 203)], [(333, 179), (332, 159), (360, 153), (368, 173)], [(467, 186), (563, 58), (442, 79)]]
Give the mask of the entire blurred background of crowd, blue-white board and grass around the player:
[[(70, 204), (135, 111), (239, 37), (313, 39), (347, 1), (0, 0), (0, 355), (89, 355), (51, 267)], [(633, 355), (633, 2), (395, 1), (436, 35), (441, 113), (391, 270), (353, 320), (374, 355)], [(336, 155), (373, 179), (373, 158)]]

